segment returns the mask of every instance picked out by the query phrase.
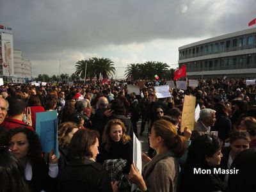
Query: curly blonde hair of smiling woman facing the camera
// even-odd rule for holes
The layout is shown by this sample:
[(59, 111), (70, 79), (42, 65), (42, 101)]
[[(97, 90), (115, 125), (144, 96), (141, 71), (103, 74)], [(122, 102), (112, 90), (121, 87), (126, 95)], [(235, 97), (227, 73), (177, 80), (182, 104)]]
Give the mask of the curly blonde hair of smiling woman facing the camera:
[(108, 124), (105, 126), (104, 128), (104, 132), (103, 132), (103, 136), (102, 136), (102, 141), (103, 143), (106, 143), (105, 145), (105, 149), (109, 152), (109, 149), (111, 147), (111, 138), (109, 137), (110, 135), (110, 131), (111, 131), (111, 127), (113, 125), (120, 125), (122, 127), (122, 137), (121, 137), (121, 141), (123, 144), (127, 143), (128, 141), (131, 140), (130, 136), (128, 136), (127, 134), (125, 134), (126, 132), (126, 127), (124, 125), (124, 123), (119, 120), (119, 119), (113, 119), (113, 120), (109, 120)]

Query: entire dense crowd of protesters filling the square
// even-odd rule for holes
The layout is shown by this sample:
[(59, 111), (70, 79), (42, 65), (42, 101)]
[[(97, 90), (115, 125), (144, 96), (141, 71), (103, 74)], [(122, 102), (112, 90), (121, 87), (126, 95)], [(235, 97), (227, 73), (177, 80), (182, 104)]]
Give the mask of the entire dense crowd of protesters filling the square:
[[(138, 93), (127, 84), (138, 82), (1, 86), (0, 191), (255, 191), (255, 85), (199, 79), (157, 98), (164, 79), (144, 81)], [(181, 131), (185, 95), (196, 97), (200, 118)], [(52, 110), (60, 158), (42, 153), (35, 132), (36, 113)], [(143, 134), (140, 173), (132, 143)]]

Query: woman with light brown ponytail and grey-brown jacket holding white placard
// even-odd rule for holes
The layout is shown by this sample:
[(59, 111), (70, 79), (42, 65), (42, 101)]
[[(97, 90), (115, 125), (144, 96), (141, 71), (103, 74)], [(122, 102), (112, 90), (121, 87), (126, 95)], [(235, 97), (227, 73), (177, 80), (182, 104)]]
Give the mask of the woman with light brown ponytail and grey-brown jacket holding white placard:
[(145, 165), (143, 175), (131, 165), (129, 179), (141, 191), (177, 191), (179, 161), (186, 150), (186, 139), (177, 134), (175, 125), (160, 119), (154, 122), (149, 134), (150, 147), (156, 156)]

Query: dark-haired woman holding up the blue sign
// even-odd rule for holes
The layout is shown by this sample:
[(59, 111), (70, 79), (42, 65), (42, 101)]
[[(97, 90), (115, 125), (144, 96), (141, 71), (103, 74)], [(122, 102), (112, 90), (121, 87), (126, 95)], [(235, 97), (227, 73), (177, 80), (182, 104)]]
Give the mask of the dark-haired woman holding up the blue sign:
[(35, 131), (26, 127), (10, 129), (6, 132), (6, 145), (20, 160), (25, 178), (31, 191), (51, 191), (56, 187), (58, 159), (52, 150), (49, 154), (49, 167), (41, 156), (41, 145)]

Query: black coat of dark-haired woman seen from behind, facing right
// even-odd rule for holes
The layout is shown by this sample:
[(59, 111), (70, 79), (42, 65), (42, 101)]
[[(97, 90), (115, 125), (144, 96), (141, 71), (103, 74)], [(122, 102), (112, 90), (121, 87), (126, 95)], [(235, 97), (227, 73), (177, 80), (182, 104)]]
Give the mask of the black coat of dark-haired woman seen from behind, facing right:
[(58, 191), (112, 191), (108, 173), (90, 159), (71, 161), (58, 175)]

